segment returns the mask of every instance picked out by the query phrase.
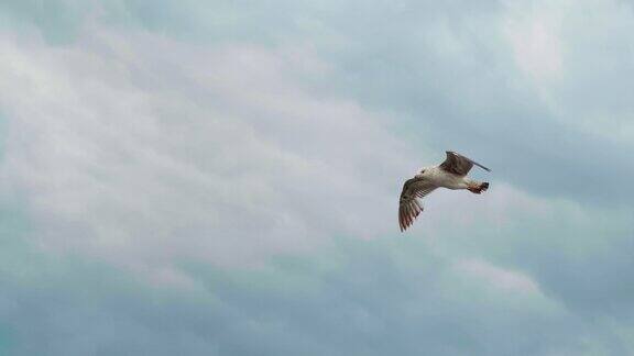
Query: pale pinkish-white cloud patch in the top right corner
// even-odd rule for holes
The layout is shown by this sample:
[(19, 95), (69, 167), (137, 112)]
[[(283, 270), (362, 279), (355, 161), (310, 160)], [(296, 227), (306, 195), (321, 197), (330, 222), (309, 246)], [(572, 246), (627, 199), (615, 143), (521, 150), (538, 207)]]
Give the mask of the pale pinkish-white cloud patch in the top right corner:
[[(507, 2), (503, 32), (553, 119), (602, 140), (634, 136), (634, 13), (622, 1)], [(601, 89), (598, 89), (601, 88)]]

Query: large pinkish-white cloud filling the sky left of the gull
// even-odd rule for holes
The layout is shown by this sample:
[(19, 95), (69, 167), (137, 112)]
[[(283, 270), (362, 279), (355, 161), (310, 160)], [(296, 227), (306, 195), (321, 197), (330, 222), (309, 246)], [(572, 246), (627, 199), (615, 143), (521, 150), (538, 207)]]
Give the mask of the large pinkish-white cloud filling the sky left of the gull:
[(88, 30), (69, 47), (0, 37), (1, 174), (42, 245), (249, 265), (393, 230), (404, 147), (379, 115), (309, 93), (297, 78), (327, 70), (309, 51)]

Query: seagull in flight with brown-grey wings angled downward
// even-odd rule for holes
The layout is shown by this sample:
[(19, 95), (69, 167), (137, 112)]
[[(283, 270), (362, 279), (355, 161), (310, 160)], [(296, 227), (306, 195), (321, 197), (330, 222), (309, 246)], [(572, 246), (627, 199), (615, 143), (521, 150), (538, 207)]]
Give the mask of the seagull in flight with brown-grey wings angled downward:
[(438, 166), (424, 167), (414, 178), (403, 185), (398, 201), (398, 224), (401, 232), (409, 227), (416, 216), (423, 211), (423, 205), (416, 198), (424, 198), (436, 188), (468, 189), (472, 193), (481, 193), (489, 188), (489, 182), (477, 181), (467, 177), (473, 165), (491, 171), (491, 169), (460, 154), (447, 151), (447, 158)]

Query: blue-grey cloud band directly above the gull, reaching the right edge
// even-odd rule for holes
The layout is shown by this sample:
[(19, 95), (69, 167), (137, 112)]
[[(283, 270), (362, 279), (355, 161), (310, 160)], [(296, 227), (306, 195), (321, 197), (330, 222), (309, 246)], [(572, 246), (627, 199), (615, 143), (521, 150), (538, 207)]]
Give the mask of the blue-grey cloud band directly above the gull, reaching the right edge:
[[(404, 129), (419, 132), (426, 145), (431, 141), (438, 151), (483, 157), (496, 168), (496, 177), (535, 193), (627, 204), (632, 196), (622, 187), (634, 174), (631, 140), (615, 142), (579, 122), (589, 120), (583, 114), (591, 111), (611, 118), (606, 122), (632, 114), (623, 81), (632, 68), (631, 56), (599, 46), (601, 36), (587, 36), (583, 31), (592, 30), (575, 22), (573, 14), (572, 20), (566, 18), (561, 45), (570, 52), (562, 59), (564, 78), (546, 85), (553, 104), (515, 67), (502, 31), (504, 15), (500, 11), (467, 21), (459, 21), (460, 15), (440, 18), (412, 24), (409, 31), (385, 25), (380, 41), (353, 34), (358, 47), (336, 55), (341, 85), (370, 107), (409, 115)], [(632, 16), (619, 21), (623, 27), (634, 25)], [(632, 33), (614, 27), (595, 32), (616, 46), (630, 42)], [(419, 33), (425, 35), (416, 36)], [(605, 57), (610, 66), (601, 64)]]

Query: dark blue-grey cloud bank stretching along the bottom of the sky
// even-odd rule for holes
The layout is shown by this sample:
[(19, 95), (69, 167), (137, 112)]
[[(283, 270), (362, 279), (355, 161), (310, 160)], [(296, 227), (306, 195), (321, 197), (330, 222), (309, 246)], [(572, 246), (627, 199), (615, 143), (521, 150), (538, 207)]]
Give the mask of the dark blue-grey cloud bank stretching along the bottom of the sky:
[(2, 275), (0, 313), (13, 340), (7, 347), (13, 355), (572, 355), (624, 347), (611, 344), (615, 331), (595, 333), (606, 324), (584, 322), (539, 291), (473, 278), (430, 247), (340, 240), (320, 257), (281, 257), (247, 271), (183, 262), (206, 288), (176, 290), (13, 246), (30, 259)]

